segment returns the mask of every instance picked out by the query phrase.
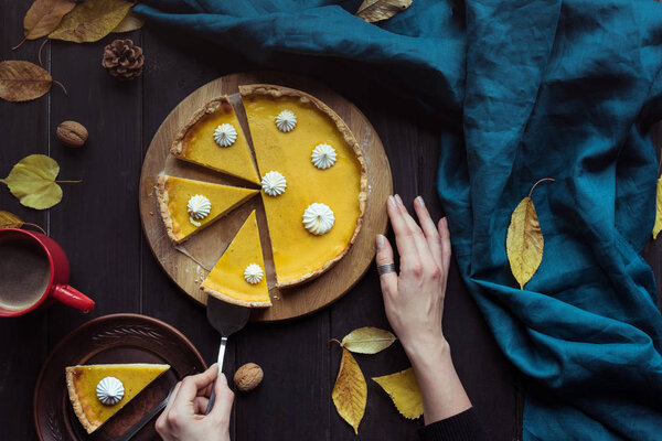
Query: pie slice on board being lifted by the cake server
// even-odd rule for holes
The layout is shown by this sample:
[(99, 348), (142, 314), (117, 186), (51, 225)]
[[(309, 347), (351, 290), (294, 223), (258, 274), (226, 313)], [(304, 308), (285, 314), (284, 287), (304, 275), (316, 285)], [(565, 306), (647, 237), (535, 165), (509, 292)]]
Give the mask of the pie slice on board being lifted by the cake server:
[(201, 289), (241, 306), (270, 306), (255, 211), (218, 259)]

